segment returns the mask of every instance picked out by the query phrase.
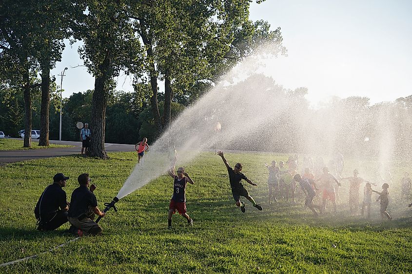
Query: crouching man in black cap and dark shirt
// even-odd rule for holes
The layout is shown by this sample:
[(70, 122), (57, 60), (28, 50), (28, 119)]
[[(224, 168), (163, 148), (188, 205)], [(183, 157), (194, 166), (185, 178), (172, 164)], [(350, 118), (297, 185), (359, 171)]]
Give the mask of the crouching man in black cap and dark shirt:
[[(38, 230), (55, 230), (67, 222), (69, 204), (66, 201), (66, 192), (61, 189), (66, 186), (69, 177), (57, 173), (53, 177), (53, 184), (44, 189), (34, 209), (38, 220)], [(60, 209), (59, 209), (60, 208)]]

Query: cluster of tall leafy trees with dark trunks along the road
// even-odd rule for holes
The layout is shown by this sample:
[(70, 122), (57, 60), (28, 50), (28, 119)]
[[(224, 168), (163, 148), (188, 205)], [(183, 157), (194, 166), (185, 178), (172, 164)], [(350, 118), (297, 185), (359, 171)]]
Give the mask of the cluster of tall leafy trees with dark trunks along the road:
[[(94, 138), (88, 156), (105, 159), (104, 142), (112, 140), (112, 134), (105, 132), (106, 125), (122, 125), (120, 116), (107, 115), (107, 108), (121, 108), (133, 101), (115, 91), (120, 72), (133, 76), (135, 92), (130, 96), (139, 98), (128, 113), (139, 119), (150, 106), (154, 132), (160, 133), (170, 125), (177, 98), (184, 103), (198, 97), (260, 45), (270, 44), (269, 54), (286, 54), (280, 28), (271, 30), (266, 21), (249, 20), (250, 4), (249, 0), (2, 0), (2, 102), (10, 106), (9, 102), (22, 98), (23, 109), (16, 101), (14, 116), (24, 113), (28, 132), (39, 115), (39, 146), (47, 146), (49, 128), (55, 130), (49, 110), (58, 106), (50, 70), (61, 61), (64, 39), (81, 40), (78, 54), (95, 78), (95, 88), (84, 95), (91, 100), (91, 107), (82, 108), (82, 119), (73, 116), (77, 114), (67, 106), (65, 124), (90, 120)], [(106, 121), (109, 117), (113, 120)], [(13, 133), (16, 130), (8, 127)], [(133, 127), (138, 128), (138, 122)], [(140, 129), (145, 127), (141, 122)], [(68, 126), (64, 130), (69, 130)], [(74, 138), (70, 132), (65, 133), (66, 138)], [(117, 138), (113, 137), (131, 142), (129, 137)], [(24, 136), (24, 146), (31, 146), (30, 134)]]

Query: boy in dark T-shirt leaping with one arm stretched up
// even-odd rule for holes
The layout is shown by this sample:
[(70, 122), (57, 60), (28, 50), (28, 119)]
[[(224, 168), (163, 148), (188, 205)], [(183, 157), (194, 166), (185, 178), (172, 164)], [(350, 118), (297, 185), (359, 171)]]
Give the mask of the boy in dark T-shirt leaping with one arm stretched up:
[(226, 165), (226, 168), (229, 172), (229, 181), (230, 181), (230, 187), (232, 188), (232, 195), (233, 199), (235, 199), (235, 203), (237, 206), (240, 207), (240, 210), (244, 213), (246, 211), (245, 209), (245, 202), (240, 201), (240, 196), (246, 197), (250, 202), (252, 202), (253, 206), (256, 207), (258, 210), (262, 210), (263, 207), (260, 204), (256, 204), (255, 200), (252, 198), (252, 196), (249, 195), (249, 192), (246, 190), (246, 188), (243, 186), (240, 181), (243, 179), (246, 182), (257, 186), (257, 184), (253, 183), (250, 181), (244, 174), (242, 174), (240, 171), (242, 170), (242, 164), (237, 163), (235, 164), (235, 168), (232, 169), (228, 162), (226, 161), (225, 157), (223, 156), (222, 151), (218, 151), (217, 155), (222, 157), (223, 163)]

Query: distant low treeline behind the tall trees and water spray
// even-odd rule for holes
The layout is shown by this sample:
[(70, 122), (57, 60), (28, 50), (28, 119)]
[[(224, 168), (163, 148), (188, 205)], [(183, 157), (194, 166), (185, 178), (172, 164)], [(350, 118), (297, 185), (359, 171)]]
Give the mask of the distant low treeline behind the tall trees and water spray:
[[(251, 75), (246, 81), (259, 83), (260, 88), (274, 92), (283, 106), (279, 115), (265, 126), (256, 128), (249, 139), (234, 142), (228, 148), (245, 149), (245, 143), (250, 143), (254, 149), (262, 151), (328, 154), (338, 149), (353, 156), (412, 156), (412, 95), (374, 105), (366, 97), (334, 97), (313, 108), (305, 98), (306, 88), (287, 90), (272, 78), (260, 74)], [(205, 87), (202, 89), (206, 90)], [(92, 94), (93, 91), (78, 92), (64, 100), (63, 140), (78, 141), (75, 124), (90, 121)], [(187, 106), (195, 103), (202, 92), (198, 91), (196, 96), (193, 94), (174, 96), (172, 121)], [(158, 93), (160, 113), (164, 108), (163, 96), (163, 93)], [(1, 101), (0, 116), (7, 119), (1, 119), (0, 128), (6, 134), (16, 136), (23, 127), (22, 95), (8, 100), (1, 97)], [(34, 100), (34, 128), (39, 126), (39, 104), (39, 100)], [(54, 104), (59, 106), (59, 101), (55, 103), (52, 100), (51, 139), (59, 137), (59, 112)], [(149, 98), (142, 98), (139, 91), (110, 95), (106, 110), (106, 142), (136, 144), (143, 137), (153, 142), (160, 133)]]

